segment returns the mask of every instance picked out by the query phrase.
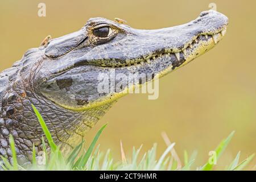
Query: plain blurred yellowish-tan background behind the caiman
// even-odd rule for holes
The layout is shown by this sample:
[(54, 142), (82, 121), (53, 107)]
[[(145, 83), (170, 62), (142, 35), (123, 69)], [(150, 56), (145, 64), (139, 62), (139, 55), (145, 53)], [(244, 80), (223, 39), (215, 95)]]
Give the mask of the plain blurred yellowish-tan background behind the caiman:
[[(39, 17), (38, 3), (46, 3), (46, 17)], [(199, 152), (197, 165), (222, 138), (236, 131), (222, 164), (238, 151), (242, 158), (256, 151), (256, 1), (14, 1), (0, 2), (0, 71), (11, 67), (23, 53), (42, 40), (79, 30), (91, 17), (125, 19), (134, 28), (175, 26), (195, 19), (214, 2), (229, 18), (227, 34), (217, 47), (192, 63), (160, 79), (158, 100), (146, 94), (130, 94), (97, 123), (86, 140), (109, 122), (100, 137), (101, 150), (111, 148), (121, 159), (119, 140), (127, 154), (132, 146), (142, 151), (158, 143), (159, 155), (166, 145), (166, 131), (176, 142), (178, 154)], [(181, 157), (181, 156), (180, 156)], [(254, 164), (256, 160), (254, 159)], [(253, 164), (251, 164), (253, 167)]]

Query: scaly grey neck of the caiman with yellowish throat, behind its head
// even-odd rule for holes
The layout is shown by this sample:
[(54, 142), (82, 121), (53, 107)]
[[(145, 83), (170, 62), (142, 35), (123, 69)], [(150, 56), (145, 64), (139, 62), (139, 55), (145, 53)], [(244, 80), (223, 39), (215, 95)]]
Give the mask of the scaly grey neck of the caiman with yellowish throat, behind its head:
[[(23, 65), (22, 62), (26, 60), (24, 57), (16, 65)], [(9, 147), (11, 134), (15, 140), (16, 154), (21, 165), (30, 163), (33, 143), (37, 153), (43, 150), (41, 140), (43, 130), (32, 111), (31, 104), (34, 104), (42, 114), (53, 139), (56, 144), (60, 144), (64, 152), (76, 146), (85, 132), (93, 127), (98, 118), (102, 117), (110, 107), (105, 105), (79, 112), (64, 110), (30, 92), (29, 86), (26, 85), (26, 80), (29, 78), (29, 75), (22, 77), (19, 66), (7, 69), (0, 75), (0, 155), (12, 162)]]

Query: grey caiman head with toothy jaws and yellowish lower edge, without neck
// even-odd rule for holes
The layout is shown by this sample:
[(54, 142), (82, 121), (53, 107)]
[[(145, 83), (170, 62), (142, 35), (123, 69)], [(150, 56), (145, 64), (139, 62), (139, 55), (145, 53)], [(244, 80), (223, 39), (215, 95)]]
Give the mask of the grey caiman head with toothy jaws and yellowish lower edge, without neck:
[[(34, 84), (37, 92), (65, 109), (108, 104), (127, 89), (162, 77), (207, 52), (222, 39), (227, 25), (228, 18), (212, 10), (187, 24), (158, 30), (92, 18), (80, 31), (49, 42), (42, 50), (44, 61)], [(102, 73), (108, 79), (102, 79)], [(137, 79), (124, 79), (135, 73)], [(109, 81), (105, 83), (109, 92), (102, 93), (99, 86), (104, 81)]]

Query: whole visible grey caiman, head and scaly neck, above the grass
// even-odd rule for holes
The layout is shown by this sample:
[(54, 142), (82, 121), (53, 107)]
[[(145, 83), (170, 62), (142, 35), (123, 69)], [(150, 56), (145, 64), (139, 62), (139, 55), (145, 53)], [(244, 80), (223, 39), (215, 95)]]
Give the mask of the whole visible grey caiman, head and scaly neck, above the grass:
[[(32, 105), (42, 114), (54, 142), (69, 151), (127, 89), (162, 77), (209, 51), (227, 26), (225, 15), (209, 10), (189, 23), (158, 30), (91, 18), (79, 31), (47, 38), (0, 73), (0, 155), (12, 162), (10, 134), (20, 165), (30, 163), (33, 144), (36, 152), (43, 150), (43, 130)], [(99, 93), (98, 76), (110, 72), (152, 77)]]

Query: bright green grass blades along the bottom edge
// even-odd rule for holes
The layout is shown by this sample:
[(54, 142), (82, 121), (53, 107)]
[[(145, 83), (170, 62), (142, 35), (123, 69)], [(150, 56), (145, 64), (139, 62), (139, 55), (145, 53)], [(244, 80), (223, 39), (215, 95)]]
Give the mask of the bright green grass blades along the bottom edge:
[[(159, 159), (156, 158), (156, 144), (148, 150), (142, 158), (139, 158), (141, 147), (136, 149), (133, 148), (133, 154), (130, 157), (130, 160), (126, 158), (125, 152), (123, 151), (122, 142), (121, 142), (121, 156), (122, 160), (114, 162), (114, 158), (111, 155), (110, 150), (106, 152), (100, 152), (100, 146), (96, 147), (98, 138), (100, 137), (102, 131), (105, 129), (106, 125), (102, 126), (94, 137), (89, 148), (85, 150), (84, 140), (75, 148), (68, 156), (63, 156), (61, 154), (60, 148), (56, 146), (53, 142), (51, 133), (47, 129), (46, 123), (44, 122), (42, 116), (36, 110), (35, 106), (32, 106), (36, 116), (38, 117), (39, 123), (42, 126), (44, 134), (46, 135), (47, 142), (51, 148), (51, 151), (46, 152), (46, 144), (44, 138), (42, 137), (43, 143), (43, 155), (36, 156), (35, 147), (32, 148), (32, 165), (24, 168), (19, 166), (16, 159), (15, 152), (15, 143), (13, 136), (10, 135), (10, 147), (13, 154), (13, 163), (10, 162), (1, 156), (3, 164), (1, 165), (5, 170), (79, 170), (79, 171), (90, 171), (90, 170), (203, 170), (210, 171), (218, 165), (218, 160), (221, 154), (225, 151), (226, 147), (230, 143), (234, 135), (234, 131), (220, 144), (216, 147), (216, 150), (212, 151), (213, 155), (210, 156), (208, 162), (206, 162), (202, 167), (193, 167), (193, 164), (196, 160), (196, 152), (193, 152), (189, 157), (188, 152), (184, 151), (184, 160), (183, 165), (179, 156), (177, 156), (174, 149), (175, 143), (171, 143), (168, 140), (167, 135), (164, 135), (164, 140), (166, 141), (168, 147), (166, 151), (160, 156)], [(226, 166), (226, 170), (242, 170), (247, 164), (251, 162), (254, 158), (254, 154), (250, 155), (246, 159), (240, 162), (240, 154), (238, 152), (236, 158)], [(216, 160), (216, 165), (214, 164)]]

